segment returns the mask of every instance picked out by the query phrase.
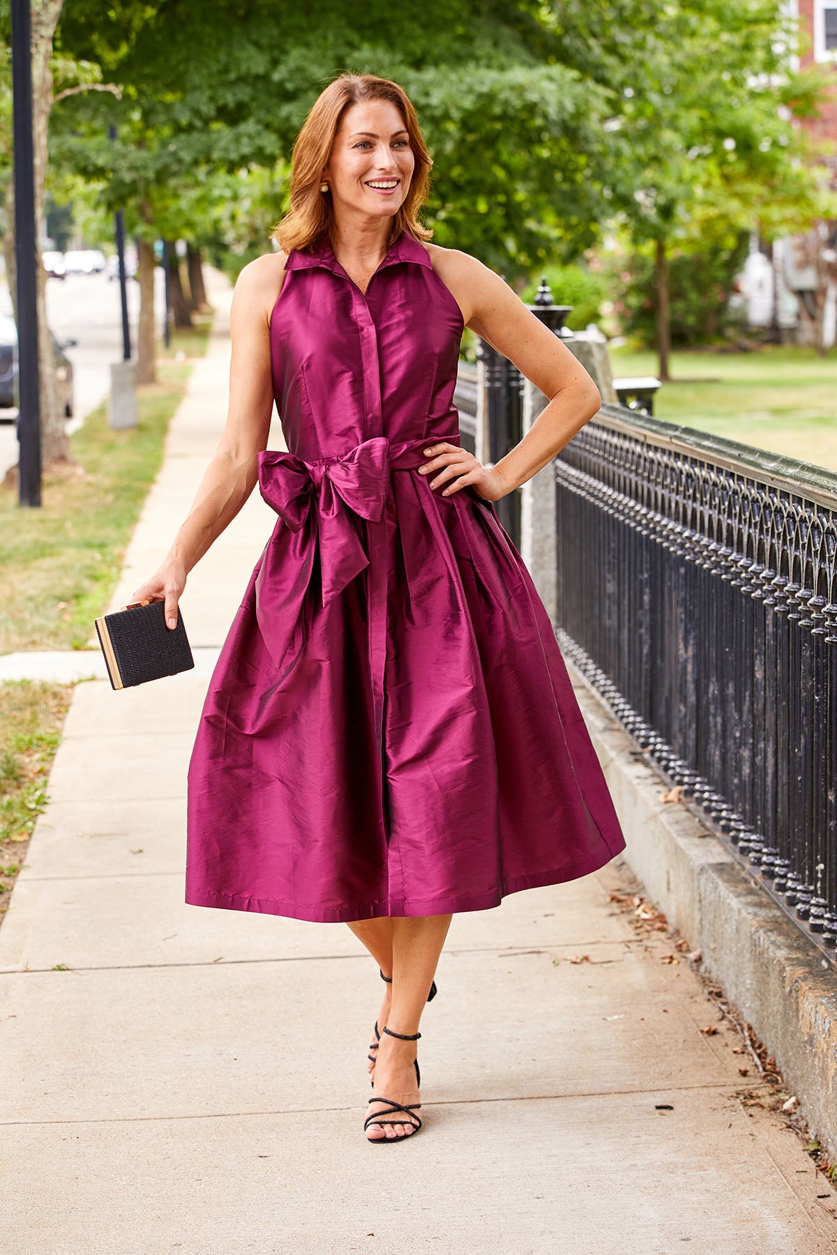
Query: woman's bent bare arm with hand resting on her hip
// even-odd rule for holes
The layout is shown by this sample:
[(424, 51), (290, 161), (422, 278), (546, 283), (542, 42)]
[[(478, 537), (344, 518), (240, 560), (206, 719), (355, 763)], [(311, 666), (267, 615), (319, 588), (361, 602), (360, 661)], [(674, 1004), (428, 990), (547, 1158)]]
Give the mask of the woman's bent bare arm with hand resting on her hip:
[[(453, 248), (444, 250), (439, 262), (439, 277), (457, 297), (466, 326), (508, 358), (548, 398), (520, 444), (499, 462), (491, 468), (481, 467), (479, 472), (472, 468), (464, 476), (458, 472), (464, 483), (474, 484), (479, 496), (497, 499), (520, 488), (570, 443), (597, 413), (601, 394), (577, 358), (499, 275), (476, 257)], [(444, 451), (442, 444), (433, 446), (433, 452), (438, 456), (427, 464), (427, 472), (453, 471), (449, 462), (462, 463), (462, 456), (449, 457), (453, 446), (450, 451)], [(452, 478), (443, 471), (434, 486), (445, 483), (448, 492), (463, 486), (450, 483)]]

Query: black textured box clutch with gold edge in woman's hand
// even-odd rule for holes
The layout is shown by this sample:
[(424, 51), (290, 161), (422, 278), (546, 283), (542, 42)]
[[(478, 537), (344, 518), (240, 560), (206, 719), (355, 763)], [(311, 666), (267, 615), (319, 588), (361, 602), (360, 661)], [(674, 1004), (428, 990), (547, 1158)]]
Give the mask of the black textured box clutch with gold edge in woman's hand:
[(195, 666), (179, 606), (177, 626), (166, 626), (164, 601), (132, 601), (95, 620), (114, 689), (127, 689)]

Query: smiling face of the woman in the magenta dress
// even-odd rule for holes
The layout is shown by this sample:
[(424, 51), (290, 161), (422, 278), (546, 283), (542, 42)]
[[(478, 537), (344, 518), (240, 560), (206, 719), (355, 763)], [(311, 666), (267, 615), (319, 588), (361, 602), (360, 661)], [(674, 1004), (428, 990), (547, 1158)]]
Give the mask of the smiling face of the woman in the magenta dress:
[(324, 171), (335, 213), (393, 217), (407, 196), (414, 167), (404, 118), (394, 104), (366, 100), (350, 105)]

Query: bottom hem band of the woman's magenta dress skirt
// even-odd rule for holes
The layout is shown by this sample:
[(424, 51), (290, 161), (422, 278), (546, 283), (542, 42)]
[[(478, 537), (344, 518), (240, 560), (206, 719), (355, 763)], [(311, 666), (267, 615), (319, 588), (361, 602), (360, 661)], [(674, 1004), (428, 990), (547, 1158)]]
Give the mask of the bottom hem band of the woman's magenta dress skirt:
[(587, 863), (573, 866), (572, 871), (536, 872), (531, 876), (516, 876), (502, 882), (499, 890), (491, 894), (478, 894), (476, 896), (448, 896), (443, 899), (400, 899), (390, 902), (369, 902), (364, 906), (334, 906), (317, 907), (296, 905), (294, 902), (277, 902), (272, 897), (253, 897), (246, 894), (212, 894), (208, 891), (187, 890), (186, 902), (188, 906), (210, 906), (226, 911), (252, 911), (259, 915), (282, 915), (291, 920), (306, 920), (310, 924), (349, 924), (355, 920), (371, 920), (384, 916), (414, 917), (424, 915), (449, 915), (463, 911), (488, 911), (499, 906), (503, 897), (517, 894), (525, 889), (543, 889), (546, 885), (562, 885), (570, 880), (578, 880), (589, 876), (594, 871), (600, 871), (616, 855), (625, 850), (625, 843), (614, 851), (607, 851), (607, 857), (596, 855)]

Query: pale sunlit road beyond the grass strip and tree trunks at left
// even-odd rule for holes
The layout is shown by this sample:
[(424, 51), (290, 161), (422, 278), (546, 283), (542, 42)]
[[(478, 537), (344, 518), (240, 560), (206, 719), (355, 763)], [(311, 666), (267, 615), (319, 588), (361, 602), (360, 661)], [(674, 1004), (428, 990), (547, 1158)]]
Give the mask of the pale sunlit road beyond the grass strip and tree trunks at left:
[[(159, 267), (156, 277), (154, 306), (158, 334), (162, 336), (163, 272)], [(0, 279), (0, 312), (11, 312), (11, 296), (5, 279)], [(68, 339), (77, 341), (73, 348), (65, 349), (67, 356), (73, 363), (74, 378), (74, 415), (68, 420), (67, 429), (74, 432), (90, 410), (107, 397), (110, 388), (110, 363), (122, 360), (119, 284), (108, 280), (105, 275), (48, 279), (46, 312), (59, 344)], [(134, 280), (129, 280), (128, 316), (134, 354), (138, 315), (139, 287)], [(0, 410), (0, 477), (18, 461), (14, 417), (14, 410)]]

